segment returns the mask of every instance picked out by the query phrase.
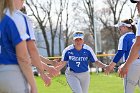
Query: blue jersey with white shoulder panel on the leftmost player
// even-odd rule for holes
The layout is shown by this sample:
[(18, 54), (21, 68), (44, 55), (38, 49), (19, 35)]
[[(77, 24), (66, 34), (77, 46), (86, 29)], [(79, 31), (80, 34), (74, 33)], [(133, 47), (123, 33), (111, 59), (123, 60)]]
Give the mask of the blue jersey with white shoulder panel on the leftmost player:
[(5, 11), (0, 22), (0, 64), (18, 64), (15, 47), (29, 38), (23, 16), (14, 11)]

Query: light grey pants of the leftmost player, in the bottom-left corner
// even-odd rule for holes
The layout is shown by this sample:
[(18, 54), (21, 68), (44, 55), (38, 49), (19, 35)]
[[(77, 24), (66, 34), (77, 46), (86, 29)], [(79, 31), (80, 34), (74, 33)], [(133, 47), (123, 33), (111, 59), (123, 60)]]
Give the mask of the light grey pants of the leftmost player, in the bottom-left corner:
[(29, 93), (28, 83), (18, 66), (0, 66), (0, 93)]

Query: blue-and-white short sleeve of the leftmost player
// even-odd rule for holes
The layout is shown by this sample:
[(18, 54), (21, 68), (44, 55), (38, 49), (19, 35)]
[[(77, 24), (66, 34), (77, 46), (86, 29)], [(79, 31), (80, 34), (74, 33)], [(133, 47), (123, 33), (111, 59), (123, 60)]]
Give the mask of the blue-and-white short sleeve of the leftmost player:
[[(7, 34), (8, 39), (12, 41), (12, 45), (16, 46), (21, 41), (27, 40), (29, 36), (25, 30), (26, 26), (24, 25), (25, 24), (24, 20), (22, 20), (23, 17), (20, 17), (18, 15), (14, 17), (19, 17), (19, 18), (17, 19), (14, 18), (13, 20), (7, 16), (7, 24), (5, 27), (6, 28), (5, 33)], [(20, 19), (21, 21), (20, 23), (18, 23)]]

